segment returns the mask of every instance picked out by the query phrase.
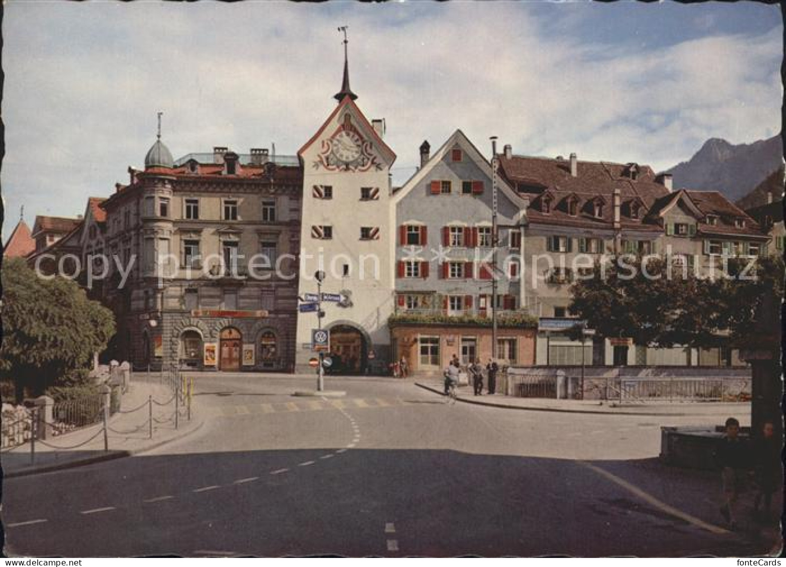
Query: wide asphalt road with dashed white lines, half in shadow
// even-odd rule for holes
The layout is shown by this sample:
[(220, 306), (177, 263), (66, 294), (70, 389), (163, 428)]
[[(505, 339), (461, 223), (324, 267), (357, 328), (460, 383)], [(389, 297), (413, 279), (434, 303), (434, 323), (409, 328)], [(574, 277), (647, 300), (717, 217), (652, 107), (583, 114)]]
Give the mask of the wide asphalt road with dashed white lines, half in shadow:
[[(575, 556), (765, 553), (718, 528), (714, 476), (663, 469), (691, 418), (446, 404), (411, 382), (199, 377), (193, 436), (9, 479), (6, 553)], [(704, 418), (706, 420), (706, 418)], [(701, 422), (699, 420), (699, 422)]]

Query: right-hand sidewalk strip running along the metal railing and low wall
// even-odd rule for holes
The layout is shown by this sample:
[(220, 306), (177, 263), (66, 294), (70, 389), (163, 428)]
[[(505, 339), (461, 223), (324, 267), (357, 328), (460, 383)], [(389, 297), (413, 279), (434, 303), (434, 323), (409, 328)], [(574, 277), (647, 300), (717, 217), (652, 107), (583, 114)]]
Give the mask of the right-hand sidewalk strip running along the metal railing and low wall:
[[(443, 395), (443, 381), (416, 381), (415, 385)], [(474, 396), (472, 387), (460, 385), (456, 389), (457, 399), (460, 402), (475, 403), (479, 406), (501, 407), (510, 410), (528, 411), (560, 411), (574, 414), (626, 414), (626, 415), (663, 415), (670, 417), (707, 415), (740, 415), (751, 411), (751, 404), (747, 402), (673, 402), (673, 403), (630, 403), (617, 406), (612, 401), (589, 399), (548, 399), (548, 398), (516, 398), (504, 394)], [(728, 415), (727, 415), (728, 414)]]

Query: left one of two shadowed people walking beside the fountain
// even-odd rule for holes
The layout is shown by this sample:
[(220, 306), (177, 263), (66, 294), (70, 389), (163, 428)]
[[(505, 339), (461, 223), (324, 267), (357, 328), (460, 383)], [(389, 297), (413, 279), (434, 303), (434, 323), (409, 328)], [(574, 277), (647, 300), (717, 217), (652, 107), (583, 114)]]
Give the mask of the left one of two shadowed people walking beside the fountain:
[(725, 423), (725, 433), (715, 449), (715, 463), (721, 469), (721, 515), (735, 529), (736, 505), (745, 488), (746, 468), (749, 462), (747, 447), (740, 439), (740, 422), (729, 418)]

